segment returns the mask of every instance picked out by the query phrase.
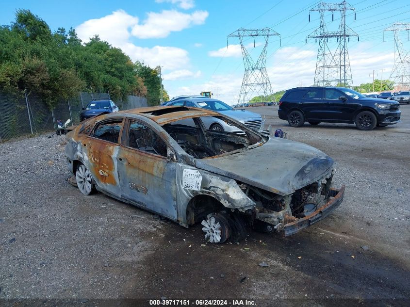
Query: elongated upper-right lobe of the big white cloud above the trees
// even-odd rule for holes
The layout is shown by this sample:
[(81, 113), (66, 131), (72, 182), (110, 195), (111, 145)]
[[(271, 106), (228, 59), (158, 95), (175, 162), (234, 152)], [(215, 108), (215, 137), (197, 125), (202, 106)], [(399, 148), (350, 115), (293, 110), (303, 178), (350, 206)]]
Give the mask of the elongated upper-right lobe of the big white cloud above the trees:
[(179, 32), (193, 25), (201, 25), (208, 17), (207, 11), (185, 14), (175, 10), (161, 13), (149, 12), (143, 24), (132, 27), (132, 35), (138, 38), (164, 38), (170, 32)]

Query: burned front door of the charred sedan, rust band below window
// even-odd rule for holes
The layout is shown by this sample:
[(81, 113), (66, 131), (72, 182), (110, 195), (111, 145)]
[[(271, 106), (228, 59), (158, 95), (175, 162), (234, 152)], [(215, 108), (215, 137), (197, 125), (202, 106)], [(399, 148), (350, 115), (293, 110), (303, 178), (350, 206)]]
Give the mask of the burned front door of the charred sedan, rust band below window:
[(127, 120), (121, 143), (116, 157), (121, 197), (177, 220), (176, 162), (168, 158), (170, 146), (135, 119)]

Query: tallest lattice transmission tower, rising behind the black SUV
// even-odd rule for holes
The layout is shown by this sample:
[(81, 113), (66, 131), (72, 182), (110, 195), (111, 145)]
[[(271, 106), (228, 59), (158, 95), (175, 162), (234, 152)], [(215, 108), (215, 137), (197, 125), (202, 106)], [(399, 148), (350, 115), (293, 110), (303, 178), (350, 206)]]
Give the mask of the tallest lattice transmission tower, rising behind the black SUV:
[[(354, 10), (354, 7), (346, 1), (341, 3), (320, 2), (310, 10), (310, 12), (319, 12), (320, 15), (320, 27), (306, 37), (306, 43), (308, 38), (314, 38), (315, 41), (319, 39), (316, 71), (314, 75), (315, 86), (353, 86), (349, 54), (347, 52), (347, 42), (350, 41), (350, 36), (358, 36), (359, 41), (359, 35), (346, 25), (346, 11)], [(332, 12), (332, 21), (334, 20), (334, 12), (340, 13), (340, 24), (337, 31), (328, 31), (325, 22), (326, 12)], [(309, 21), (311, 21), (310, 13)], [(338, 46), (336, 50), (331, 50), (331, 48), (329, 48), (329, 38), (337, 39)]]

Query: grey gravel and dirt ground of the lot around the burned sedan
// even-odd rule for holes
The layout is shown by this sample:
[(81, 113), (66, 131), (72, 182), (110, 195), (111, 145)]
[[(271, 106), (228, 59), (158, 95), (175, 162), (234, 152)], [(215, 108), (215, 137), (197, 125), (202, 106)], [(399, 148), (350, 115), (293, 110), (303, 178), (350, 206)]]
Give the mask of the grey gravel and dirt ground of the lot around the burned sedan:
[(82, 195), (66, 181), (64, 136), (0, 144), (0, 305), (16, 298), (83, 305), (242, 298), (257, 306), (326, 306), (348, 298), (409, 306), (410, 106), (400, 108), (401, 123), (373, 131), (291, 128), (276, 106), (249, 109), (266, 117), (266, 127), (332, 157), (334, 185), (345, 184), (346, 193), (307, 230), (287, 238), (251, 232), (239, 244), (206, 243), (199, 226), (186, 229), (100, 193)]

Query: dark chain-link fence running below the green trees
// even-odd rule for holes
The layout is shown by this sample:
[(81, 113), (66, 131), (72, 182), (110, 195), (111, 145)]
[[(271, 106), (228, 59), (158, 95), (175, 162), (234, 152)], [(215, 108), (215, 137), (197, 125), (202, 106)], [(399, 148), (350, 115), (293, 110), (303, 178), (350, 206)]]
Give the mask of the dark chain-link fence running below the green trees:
[[(0, 93), (0, 143), (22, 135), (52, 131), (57, 121), (67, 119), (72, 125), (80, 122), (82, 108), (92, 100), (110, 99), (109, 93), (82, 92), (78, 97), (62, 99), (52, 110), (36, 95), (16, 96)], [(147, 106), (147, 98), (128, 96), (127, 101), (115, 101), (120, 110)]]

